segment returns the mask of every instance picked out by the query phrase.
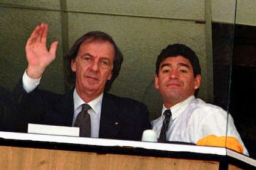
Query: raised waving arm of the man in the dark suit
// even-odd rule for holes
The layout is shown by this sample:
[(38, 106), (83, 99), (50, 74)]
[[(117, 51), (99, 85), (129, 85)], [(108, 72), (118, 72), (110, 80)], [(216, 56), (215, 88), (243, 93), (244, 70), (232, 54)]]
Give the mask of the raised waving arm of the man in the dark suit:
[(26, 58), (28, 66), (22, 80), (16, 84), (12, 92), (13, 104), (15, 105), (15, 112), (13, 112), (15, 116), (13, 117), (18, 120), (13, 123), (12, 131), (27, 132), (27, 123), (37, 120), (40, 117), (40, 112), (43, 112), (42, 109), (38, 109), (40, 108), (39, 105), (43, 105), (40, 95), (37, 92), (29, 92), (36, 91), (35, 88), (40, 82), (41, 75), (55, 59), (58, 42), (52, 42), (48, 50), (46, 47), (47, 34), (48, 25), (43, 23), (37, 25), (27, 39)]

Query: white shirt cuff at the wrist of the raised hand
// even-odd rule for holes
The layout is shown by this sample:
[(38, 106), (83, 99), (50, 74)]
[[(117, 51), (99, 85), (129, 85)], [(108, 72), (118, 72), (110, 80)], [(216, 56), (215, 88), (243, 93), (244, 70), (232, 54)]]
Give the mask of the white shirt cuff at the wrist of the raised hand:
[(40, 84), (40, 78), (34, 79), (34, 78), (30, 78), (27, 75), (27, 70), (25, 70), (23, 77), (22, 77), (22, 82), (23, 82), (23, 89), (29, 93), (32, 92), (39, 84)]

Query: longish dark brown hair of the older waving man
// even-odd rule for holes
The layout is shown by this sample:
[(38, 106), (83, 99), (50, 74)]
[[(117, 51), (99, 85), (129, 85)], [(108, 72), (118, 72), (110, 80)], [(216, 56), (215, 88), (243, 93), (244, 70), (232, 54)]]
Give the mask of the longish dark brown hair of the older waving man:
[(75, 81), (76, 81), (76, 73), (71, 70), (71, 61), (73, 59), (76, 59), (77, 53), (80, 49), (81, 44), (84, 41), (108, 41), (111, 44), (113, 44), (113, 47), (115, 49), (115, 57), (113, 61), (113, 69), (112, 69), (112, 78), (107, 81), (105, 84), (105, 91), (109, 90), (113, 81), (118, 77), (119, 71), (121, 69), (121, 65), (123, 63), (123, 54), (121, 51), (118, 49), (116, 46), (115, 42), (113, 41), (112, 37), (108, 35), (107, 33), (104, 32), (99, 32), (99, 31), (93, 31), (93, 32), (88, 32), (85, 35), (81, 36), (79, 39), (77, 39), (76, 42), (74, 42), (73, 46), (71, 49), (69, 49), (68, 53), (65, 55), (64, 60), (65, 60), (65, 65), (66, 65), (66, 72), (67, 72), (67, 80), (69, 83), (69, 86), (74, 86)]

